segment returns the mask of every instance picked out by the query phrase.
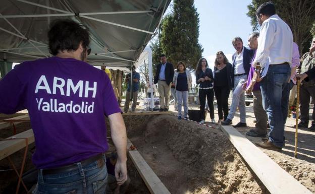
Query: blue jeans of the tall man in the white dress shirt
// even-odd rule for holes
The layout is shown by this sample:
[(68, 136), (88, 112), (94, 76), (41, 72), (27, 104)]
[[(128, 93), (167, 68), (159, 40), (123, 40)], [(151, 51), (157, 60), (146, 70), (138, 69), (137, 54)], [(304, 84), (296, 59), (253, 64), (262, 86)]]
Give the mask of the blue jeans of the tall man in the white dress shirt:
[(263, 106), (267, 112), (271, 132), (269, 140), (277, 147), (284, 147), (284, 124), (288, 114), (289, 64), (270, 65), (260, 83)]

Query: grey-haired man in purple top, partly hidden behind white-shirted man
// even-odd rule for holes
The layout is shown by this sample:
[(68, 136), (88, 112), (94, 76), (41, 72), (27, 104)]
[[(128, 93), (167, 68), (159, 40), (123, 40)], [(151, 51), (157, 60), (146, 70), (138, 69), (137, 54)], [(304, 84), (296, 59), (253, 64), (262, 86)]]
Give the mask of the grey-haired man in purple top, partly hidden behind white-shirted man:
[(252, 67), (252, 61), (256, 56), (256, 50), (258, 47), (257, 38), (259, 37), (258, 32), (253, 32), (248, 38), (248, 46), (250, 49), (255, 50), (254, 55), (250, 62), (250, 70), (248, 74), (246, 93), (253, 93), (253, 110), (256, 118), (255, 129), (250, 130), (246, 133), (247, 136), (265, 138), (267, 135), (267, 113), (263, 107), (263, 97), (261, 96), (260, 84), (256, 83), (253, 79), (255, 68)]

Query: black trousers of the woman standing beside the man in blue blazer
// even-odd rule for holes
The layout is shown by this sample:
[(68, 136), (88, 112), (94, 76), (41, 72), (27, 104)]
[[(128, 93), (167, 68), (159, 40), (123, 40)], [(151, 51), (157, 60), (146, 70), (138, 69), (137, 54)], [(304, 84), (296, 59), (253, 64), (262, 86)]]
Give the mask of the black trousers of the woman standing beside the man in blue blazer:
[[(215, 95), (216, 95), (217, 104), (218, 104), (219, 119), (226, 120), (229, 114), (228, 99), (230, 95), (230, 89), (227, 86), (214, 87), (214, 89), (215, 89)], [(222, 110), (223, 110), (223, 113), (222, 113)]]

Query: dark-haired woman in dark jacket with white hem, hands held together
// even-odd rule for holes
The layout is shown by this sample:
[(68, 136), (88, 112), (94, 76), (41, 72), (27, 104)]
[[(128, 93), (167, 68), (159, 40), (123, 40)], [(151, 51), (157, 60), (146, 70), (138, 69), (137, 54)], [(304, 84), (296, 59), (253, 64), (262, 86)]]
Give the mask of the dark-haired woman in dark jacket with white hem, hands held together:
[(213, 91), (213, 73), (212, 70), (208, 68), (208, 62), (205, 58), (200, 58), (196, 68), (196, 84), (199, 84), (199, 102), (200, 102), (200, 118), (199, 123), (204, 123), (204, 106), (205, 97), (207, 98), (211, 121), (215, 122), (215, 110), (213, 105), (214, 91)]

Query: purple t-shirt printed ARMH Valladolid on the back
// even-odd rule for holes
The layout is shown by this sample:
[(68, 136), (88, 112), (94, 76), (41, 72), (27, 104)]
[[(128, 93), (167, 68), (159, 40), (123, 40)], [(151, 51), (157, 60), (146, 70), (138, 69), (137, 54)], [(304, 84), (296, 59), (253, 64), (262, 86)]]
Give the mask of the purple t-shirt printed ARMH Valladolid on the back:
[(0, 112), (25, 108), (35, 136), (33, 163), (44, 169), (106, 152), (104, 115), (121, 112), (105, 72), (57, 56), (23, 62), (0, 81)]

